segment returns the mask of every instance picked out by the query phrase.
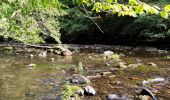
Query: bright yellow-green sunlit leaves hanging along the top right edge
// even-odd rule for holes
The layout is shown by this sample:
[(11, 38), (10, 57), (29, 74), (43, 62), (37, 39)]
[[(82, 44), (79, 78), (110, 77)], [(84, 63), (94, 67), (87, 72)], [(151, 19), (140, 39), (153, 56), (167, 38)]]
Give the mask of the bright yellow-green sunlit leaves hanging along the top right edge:
[[(78, 5), (86, 4), (89, 6), (89, 0), (76, 0)], [(93, 0), (91, 0), (93, 1)], [(121, 4), (118, 3), (118, 0), (100, 0), (100, 1), (93, 1), (92, 11), (97, 13), (100, 12), (107, 12), (110, 14), (117, 13), (118, 16), (132, 16), (137, 17), (137, 15), (142, 14), (159, 14), (163, 18), (168, 18), (170, 5), (166, 5), (162, 11), (157, 6), (150, 6), (144, 2), (139, 2), (137, 0), (129, 0), (128, 4)]]

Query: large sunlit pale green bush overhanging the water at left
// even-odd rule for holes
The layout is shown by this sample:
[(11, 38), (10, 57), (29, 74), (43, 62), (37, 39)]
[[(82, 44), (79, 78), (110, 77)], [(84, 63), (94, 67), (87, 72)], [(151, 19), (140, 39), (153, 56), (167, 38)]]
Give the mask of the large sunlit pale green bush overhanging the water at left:
[(0, 35), (24, 43), (44, 43), (47, 37), (61, 43), (56, 20), (61, 5), (58, 0), (1, 0)]

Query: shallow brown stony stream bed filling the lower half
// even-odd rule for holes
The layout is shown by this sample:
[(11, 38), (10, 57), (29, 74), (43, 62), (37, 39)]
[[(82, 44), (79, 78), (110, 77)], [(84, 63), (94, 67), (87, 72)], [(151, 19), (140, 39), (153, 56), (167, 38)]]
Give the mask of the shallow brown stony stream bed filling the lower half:
[[(15, 48), (10, 52), (2, 49), (0, 99), (55, 100), (62, 94), (64, 83), (74, 74), (88, 77), (90, 85), (96, 90), (95, 96), (80, 97), (82, 100), (106, 100), (108, 94), (121, 94), (135, 99), (143, 80), (154, 78), (164, 78), (165, 82), (148, 87), (153, 89), (158, 99), (170, 99), (168, 50), (103, 45), (70, 45), (68, 48), (73, 55), (47, 53), (47, 57), (38, 56), (40, 52), (46, 51), (43, 49)], [(119, 60), (105, 58), (104, 51), (120, 55)], [(80, 62), (83, 66), (81, 73), (76, 71)], [(120, 68), (119, 62), (129, 67)], [(29, 64), (36, 66), (29, 67)], [(141, 65), (136, 67), (135, 64)]]

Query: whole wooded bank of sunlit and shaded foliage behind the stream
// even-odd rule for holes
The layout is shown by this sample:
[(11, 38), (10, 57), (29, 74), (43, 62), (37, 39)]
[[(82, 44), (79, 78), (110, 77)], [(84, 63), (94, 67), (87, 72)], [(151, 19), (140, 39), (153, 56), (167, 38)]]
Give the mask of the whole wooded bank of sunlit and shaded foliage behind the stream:
[(168, 44), (169, 2), (1, 0), (1, 41), (28, 44)]

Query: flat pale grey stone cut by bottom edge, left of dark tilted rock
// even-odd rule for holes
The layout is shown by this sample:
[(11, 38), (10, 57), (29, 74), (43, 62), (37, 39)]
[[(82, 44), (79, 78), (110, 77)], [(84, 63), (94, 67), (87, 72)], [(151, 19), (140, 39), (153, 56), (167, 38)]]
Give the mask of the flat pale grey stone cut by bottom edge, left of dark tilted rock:
[(106, 97), (106, 100), (131, 100), (125, 95), (109, 94)]

